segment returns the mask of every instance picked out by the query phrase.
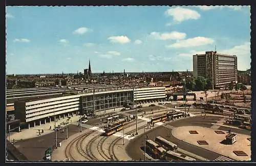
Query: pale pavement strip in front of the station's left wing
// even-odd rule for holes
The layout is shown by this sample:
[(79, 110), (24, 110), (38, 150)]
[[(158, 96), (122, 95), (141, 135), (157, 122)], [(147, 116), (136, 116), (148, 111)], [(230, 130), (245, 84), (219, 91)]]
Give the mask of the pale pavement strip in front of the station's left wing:
[[(80, 118), (80, 116), (73, 116), (70, 118), (70, 124), (73, 122), (78, 121)], [(58, 120), (56, 122), (56, 126), (58, 126), (59, 124), (61, 124), (62, 122), (66, 122), (67, 118), (63, 119), (61, 118), (60, 120)], [(50, 130), (50, 126), (52, 127), (52, 129)], [(31, 139), (33, 137), (39, 137), (38, 135), (38, 130), (44, 130), (44, 133), (41, 133), (41, 135), (45, 135), (51, 132), (54, 132), (54, 121), (52, 122), (48, 122), (46, 124), (41, 124), (40, 126), (35, 126), (35, 127), (30, 127), (30, 129), (22, 129), (20, 130), (20, 132), (12, 132), (10, 134), (10, 140), (11, 142), (14, 140), (26, 140), (26, 139)], [(7, 140), (9, 140), (9, 134), (7, 134)]]

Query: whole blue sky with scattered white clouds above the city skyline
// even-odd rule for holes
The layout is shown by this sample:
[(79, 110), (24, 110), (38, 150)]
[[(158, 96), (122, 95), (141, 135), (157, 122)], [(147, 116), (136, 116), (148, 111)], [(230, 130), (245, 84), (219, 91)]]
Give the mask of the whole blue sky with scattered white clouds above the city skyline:
[(248, 6), (7, 7), (7, 74), (193, 70), (193, 54), (250, 68)]

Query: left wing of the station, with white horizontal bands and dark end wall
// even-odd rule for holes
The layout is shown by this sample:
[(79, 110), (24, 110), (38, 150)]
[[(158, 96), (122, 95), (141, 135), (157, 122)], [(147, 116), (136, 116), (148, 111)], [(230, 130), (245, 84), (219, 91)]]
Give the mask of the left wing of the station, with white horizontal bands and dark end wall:
[(33, 122), (33, 126), (40, 125), (41, 122), (46, 123), (54, 120), (54, 116), (69, 116), (78, 113), (80, 95), (72, 95), (65, 97), (56, 97), (46, 100), (37, 101), (16, 101), (14, 103), (15, 118), (21, 122)]

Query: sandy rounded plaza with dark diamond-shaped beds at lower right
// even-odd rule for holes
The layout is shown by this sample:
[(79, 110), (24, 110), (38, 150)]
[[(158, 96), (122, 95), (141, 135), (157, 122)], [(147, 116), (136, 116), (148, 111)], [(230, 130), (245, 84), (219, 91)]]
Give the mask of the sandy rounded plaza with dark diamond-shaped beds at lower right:
[[(196, 130), (198, 134), (190, 134), (190, 130)], [(218, 129), (219, 130), (219, 129)], [(219, 153), (235, 160), (250, 160), (251, 146), (247, 139), (249, 135), (237, 134), (237, 142), (233, 145), (224, 145), (221, 142), (225, 140), (228, 134), (217, 134), (216, 129), (200, 127), (200, 126), (181, 126), (172, 130), (172, 135), (177, 139), (189, 144), (202, 147), (204, 149)], [(199, 145), (197, 141), (204, 140), (208, 145)], [(248, 156), (237, 156), (233, 151), (244, 151)]]

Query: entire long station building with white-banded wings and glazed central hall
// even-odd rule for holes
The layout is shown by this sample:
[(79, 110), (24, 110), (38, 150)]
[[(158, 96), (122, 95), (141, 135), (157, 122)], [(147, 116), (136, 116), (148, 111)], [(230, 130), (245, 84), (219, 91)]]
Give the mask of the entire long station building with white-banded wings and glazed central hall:
[(165, 87), (112, 88), (108, 91), (91, 91), (65, 97), (37, 101), (14, 102), (15, 118), (28, 128), (54, 121), (54, 119), (78, 115), (88, 109), (95, 112), (103, 109), (122, 107), (125, 103), (161, 102), (166, 98)]

